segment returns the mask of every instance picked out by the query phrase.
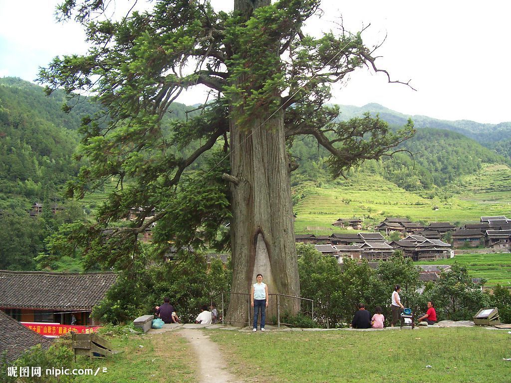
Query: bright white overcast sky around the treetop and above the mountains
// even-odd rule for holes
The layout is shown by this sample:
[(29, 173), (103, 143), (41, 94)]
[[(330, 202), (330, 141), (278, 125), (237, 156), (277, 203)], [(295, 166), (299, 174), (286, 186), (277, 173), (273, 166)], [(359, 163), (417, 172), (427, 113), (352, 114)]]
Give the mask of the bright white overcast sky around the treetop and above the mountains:
[[(117, 0), (122, 3), (121, 0)], [(56, 0), (0, 0), (0, 77), (33, 81), (38, 67), (53, 57), (84, 53), (84, 34), (71, 22), (57, 24)], [(213, 0), (228, 10), (231, 0)], [(130, 4), (132, 1), (130, 0)], [(511, 2), (389, 2), (323, 0), (324, 15), (310, 31), (336, 29), (342, 15), (351, 31), (370, 23), (362, 35), (367, 45), (386, 41), (377, 63), (393, 79), (408, 81), (417, 91), (388, 84), (383, 74), (361, 69), (332, 102), (363, 106), (378, 103), (405, 114), (481, 123), (511, 121), (509, 51)], [(198, 102), (190, 94), (181, 102)]]

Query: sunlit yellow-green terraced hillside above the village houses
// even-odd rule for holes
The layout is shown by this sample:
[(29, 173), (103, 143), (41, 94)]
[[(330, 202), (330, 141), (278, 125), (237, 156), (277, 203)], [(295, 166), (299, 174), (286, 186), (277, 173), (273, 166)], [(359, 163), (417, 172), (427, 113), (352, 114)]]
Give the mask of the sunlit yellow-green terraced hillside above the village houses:
[(488, 166), (446, 191), (452, 197), (428, 199), (371, 174), (356, 175), (335, 186), (302, 183), (293, 188), (295, 231), (330, 234), (332, 223), (339, 218), (361, 218), (365, 227), (371, 227), (385, 217), (461, 225), (479, 222), (481, 216), (511, 215), (511, 169), (507, 165)]

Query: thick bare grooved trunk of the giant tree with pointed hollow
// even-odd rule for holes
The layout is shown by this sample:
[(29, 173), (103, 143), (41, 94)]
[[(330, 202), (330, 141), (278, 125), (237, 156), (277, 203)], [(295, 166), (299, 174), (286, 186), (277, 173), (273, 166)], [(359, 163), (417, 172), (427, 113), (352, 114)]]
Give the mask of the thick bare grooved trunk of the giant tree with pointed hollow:
[[(255, 276), (263, 274), (269, 294), (299, 296), (299, 278), (294, 244), (294, 223), (289, 165), (284, 135), (284, 112), (252, 121), (250, 128), (230, 125), (233, 220), (232, 293), (250, 292)], [(231, 294), (227, 320), (248, 322), (250, 301)], [(281, 298), (280, 310), (295, 313), (297, 299)], [(276, 316), (276, 300), (270, 297), (267, 318)]]

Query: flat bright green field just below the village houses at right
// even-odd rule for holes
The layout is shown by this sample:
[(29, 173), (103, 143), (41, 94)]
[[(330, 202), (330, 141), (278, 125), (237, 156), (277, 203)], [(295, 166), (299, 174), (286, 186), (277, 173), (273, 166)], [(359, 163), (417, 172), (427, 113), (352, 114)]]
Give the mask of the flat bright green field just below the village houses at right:
[(420, 261), (416, 264), (452, 265), (454, 262), (465, 266), (473, 278), (486, 278), (486, 286), (495, 286), (497, 283), (504, 286), (511, 285), (511, 253), (460, 254), (451, 259)]

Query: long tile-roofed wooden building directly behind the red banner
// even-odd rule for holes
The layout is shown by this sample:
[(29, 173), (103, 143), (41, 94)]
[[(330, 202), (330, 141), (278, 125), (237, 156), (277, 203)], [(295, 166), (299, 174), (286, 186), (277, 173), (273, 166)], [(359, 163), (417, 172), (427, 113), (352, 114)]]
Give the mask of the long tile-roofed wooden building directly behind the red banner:
[(20, 322), (97, 325), (90, 316), (115, 273), (0, 270), (0, 309)]

